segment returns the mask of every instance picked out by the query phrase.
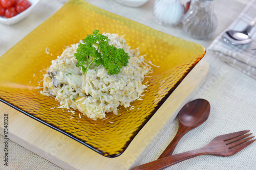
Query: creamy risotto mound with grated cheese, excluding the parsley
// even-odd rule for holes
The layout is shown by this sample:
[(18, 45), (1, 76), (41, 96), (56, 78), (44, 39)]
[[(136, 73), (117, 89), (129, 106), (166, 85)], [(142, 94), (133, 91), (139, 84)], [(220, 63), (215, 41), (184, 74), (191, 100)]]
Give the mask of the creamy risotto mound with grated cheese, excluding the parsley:
[[(78, 66), (75, 54), (79, 45), (85, 43), (81, 41), (67, 47), (56, 60), (52, 60), (52, 65), (44, 75), (44, 89), (40, 92), (54, 96), (60, 108), (78, 109), (93, 120), (104, 118), (108, 112), (117, 114), (119, 105), (126, 108), (131, 102), (140, 99), (147, 87), (142, 81), (151, 70), (143, 56), (139, 56), (138, 49), (132, 50), (125, 44), (123, 37), (110, 33), (101, 35), (108, 38), (109, 45), (115, 49), (122, 48), (127, 54), (129, 62), (126, 66), (123, 64), (119, 74), (112, 75), (103, 65), (92, 63), (93, 57), (90, 56), (87, 57), (88, 63), (84, 63), (88, 67), (87, 71)], [(97, 41), (93, 46), (104, 57), (99, 44)]]

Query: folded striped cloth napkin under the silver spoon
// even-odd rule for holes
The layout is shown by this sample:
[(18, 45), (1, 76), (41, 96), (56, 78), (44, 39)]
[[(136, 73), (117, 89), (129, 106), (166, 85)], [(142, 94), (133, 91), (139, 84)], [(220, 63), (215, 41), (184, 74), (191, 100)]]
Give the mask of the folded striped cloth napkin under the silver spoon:
[[(243, 30), (248, 23), (256, 17), (256, 1), (252, 0), (243, 9), (239, 17), (225, 30)], [(208, 51), (215, 53), (222, 61), (239, 69), (244, 74), (256, 79), (256, 26), (254, 26), (250, 35), (252, 42), (246, 45), (231, 45), (222, 40), (220, 34), (208, 47)]]

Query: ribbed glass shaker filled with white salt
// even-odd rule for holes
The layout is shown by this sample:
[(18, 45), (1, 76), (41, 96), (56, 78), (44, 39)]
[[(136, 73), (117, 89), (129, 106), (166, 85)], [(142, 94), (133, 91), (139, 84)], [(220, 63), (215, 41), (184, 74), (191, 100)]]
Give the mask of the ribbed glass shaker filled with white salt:
[(153, 8), (154, 19), (164, 26), (176, 26), (182, 21), (184, 6), (180, 0), (157, 0)]

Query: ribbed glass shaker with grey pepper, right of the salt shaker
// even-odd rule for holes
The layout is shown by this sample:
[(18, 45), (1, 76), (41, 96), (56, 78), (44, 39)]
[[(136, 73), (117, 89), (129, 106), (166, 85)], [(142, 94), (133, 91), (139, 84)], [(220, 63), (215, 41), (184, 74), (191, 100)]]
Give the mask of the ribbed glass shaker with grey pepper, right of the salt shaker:
[(218, 24), (213, 0), (192, 0), (182, 23), (183, 29), (196, 39), (211, 36)]

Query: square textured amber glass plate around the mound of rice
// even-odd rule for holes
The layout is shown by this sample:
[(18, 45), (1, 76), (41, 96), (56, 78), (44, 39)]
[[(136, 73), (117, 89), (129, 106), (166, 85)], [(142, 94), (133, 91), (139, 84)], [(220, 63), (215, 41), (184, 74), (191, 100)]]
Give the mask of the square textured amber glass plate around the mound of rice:
[[(105, 120), (79, 117), (66, 109), (51, 109), (59, 104), (41, 95), (42, 74), (63, 52), (95, 29), (101, 33), (125, 35), (127, 44), (139, 47), (141, 55), (152, 61), (153, 73), (145, 78), (147, 91), (135, 109), (119, 107), (118, 115)], [(194, 42), (159, 32), (140, 23), (112, 14), (82, 0), (71, 0), (0, 57), (0, 100), (106, 157), (122, 154), (201, 60), (205, 48)], [(164, 113), (163, 113), (164, 114)]]

